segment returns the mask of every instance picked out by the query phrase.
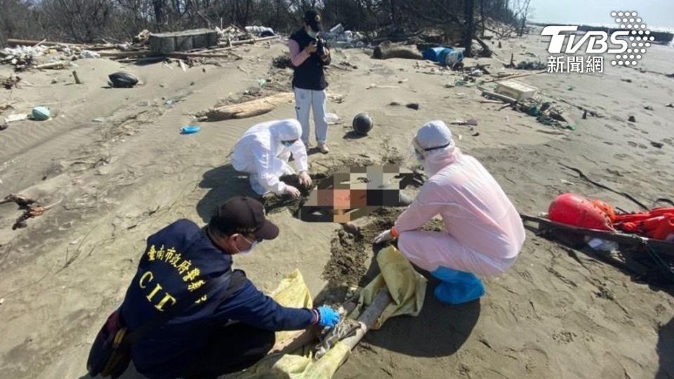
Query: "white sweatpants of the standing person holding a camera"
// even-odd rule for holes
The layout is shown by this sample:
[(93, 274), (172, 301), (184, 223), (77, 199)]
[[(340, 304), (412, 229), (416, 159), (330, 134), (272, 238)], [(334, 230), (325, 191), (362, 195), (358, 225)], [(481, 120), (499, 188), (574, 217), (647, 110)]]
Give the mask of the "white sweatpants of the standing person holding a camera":
[(316, 142), (325, 143), (328, 140), (328, 123), (325, 121), (326, 94), (323, 91), (312, 91), (295, 88), (295, 112), (297, 121), (302, 125), (302, 142), (309, 146), (311, 127), (309, 111), (314, 109), (314, 125), (316, 126)]

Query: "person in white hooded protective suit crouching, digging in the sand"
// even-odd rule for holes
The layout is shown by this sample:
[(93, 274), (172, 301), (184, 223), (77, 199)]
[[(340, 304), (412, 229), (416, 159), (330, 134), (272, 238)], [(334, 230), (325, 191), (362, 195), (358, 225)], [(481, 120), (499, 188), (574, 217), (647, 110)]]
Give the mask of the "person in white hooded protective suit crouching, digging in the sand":
[(299, 189), (279, 178), (295, 174), (288, 164), (292, 155), (300, 185), (312, 185), (307, 173), (307, 149), (300, 140), (301, 135), (302, 126), (295, 119), (257, 124), (247, 130), (234, 145), (232, 166), (237, 171), (250, 174), (251, 187), (257, 194), (272, 192), (299, 197)]

